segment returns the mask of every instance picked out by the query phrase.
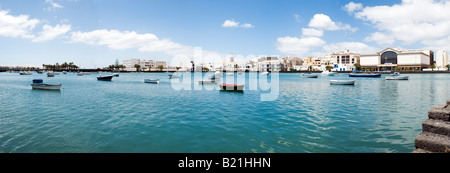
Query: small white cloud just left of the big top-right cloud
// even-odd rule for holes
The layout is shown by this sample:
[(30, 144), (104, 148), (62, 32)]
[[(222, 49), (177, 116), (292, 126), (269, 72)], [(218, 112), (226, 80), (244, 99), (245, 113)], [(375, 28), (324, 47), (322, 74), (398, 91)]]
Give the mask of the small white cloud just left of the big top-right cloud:
[(353, 28), (348, 24), (343, 24), (340, 22), (334, 22), (331, 18), (325, 14), (315, 14), (314, 17), (309, 21), (309, 27), (321, 29), (321, 30), (348, 30), (354, 32), (357, 28)]

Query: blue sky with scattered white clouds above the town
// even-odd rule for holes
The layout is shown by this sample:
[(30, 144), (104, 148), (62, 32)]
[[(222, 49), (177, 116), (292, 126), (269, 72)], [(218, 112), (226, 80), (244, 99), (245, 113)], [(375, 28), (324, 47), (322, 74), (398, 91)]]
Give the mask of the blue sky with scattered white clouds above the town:
[[(0, 0), (0, 66), (448, 50), (447, 0)], [(219, 58), (219, 59), (220, 59)]]

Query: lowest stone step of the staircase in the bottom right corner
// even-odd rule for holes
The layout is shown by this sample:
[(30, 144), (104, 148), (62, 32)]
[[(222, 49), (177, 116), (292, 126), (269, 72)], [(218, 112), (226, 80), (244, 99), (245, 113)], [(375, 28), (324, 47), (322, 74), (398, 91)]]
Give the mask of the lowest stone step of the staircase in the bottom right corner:
[(450, 137), (434, 133), (422, 132), (416, 137), (417, 149), (436, 153), (450, 153)]

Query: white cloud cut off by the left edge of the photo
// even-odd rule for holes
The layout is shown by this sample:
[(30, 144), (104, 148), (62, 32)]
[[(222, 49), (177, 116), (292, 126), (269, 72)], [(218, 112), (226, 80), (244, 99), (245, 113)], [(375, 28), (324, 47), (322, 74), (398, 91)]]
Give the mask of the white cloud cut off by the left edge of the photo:
[(12, 16), (9, 11), (0, 11), (0, 36), (33, 38), (31, 31), (40, 23), (28, 15)]

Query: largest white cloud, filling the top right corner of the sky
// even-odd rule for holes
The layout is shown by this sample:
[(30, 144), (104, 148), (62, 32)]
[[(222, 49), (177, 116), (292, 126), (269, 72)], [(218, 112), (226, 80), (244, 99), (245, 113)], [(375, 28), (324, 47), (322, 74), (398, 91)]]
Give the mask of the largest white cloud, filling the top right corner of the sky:
[[(425, 46), (448, 45), (442, 40), (450, 36), (450, 1), (403, 0), (392, 6), (364, 7), (354, 15), (370, 22), (378, 31), (366, 38), (383, 43), (400, 41), (403, 44), (422, 43)], [(441, 44), (437, 44), (439, 42)], [(450, 47), (449, 47), (450, 48)]]

